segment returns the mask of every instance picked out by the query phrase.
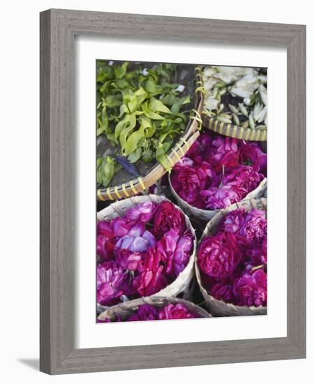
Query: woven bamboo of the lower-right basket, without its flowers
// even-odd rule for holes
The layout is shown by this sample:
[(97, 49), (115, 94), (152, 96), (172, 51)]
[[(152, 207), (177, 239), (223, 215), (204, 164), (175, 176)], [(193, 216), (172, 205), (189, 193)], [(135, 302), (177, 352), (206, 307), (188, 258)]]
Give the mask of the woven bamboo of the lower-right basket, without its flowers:
[[(262, 209), (266, 211), (267, 199), (251, 199), (236, 203), (226, 209), (221, 209), (207, 224), (200, 239), (200, 242), (202, 242), (202, 239), (204, 239), (204, 237), (215, 235), (218, 230), (218, 226), (221, 219), (223, 219), (223, 217), (226, 216), (229, 212), (240, 207), (244, 207), (246, 209), (246, 212), (251, 211), (251, 209), (253, 208)], [(207, 308), (209, 309), (209, 312), (212, 313), (214, 316), (248, 316), (267, 314), (267, 307), (240, 307), (238, 305), (223, 302), (223, 300), (214, 299), (214, 297), (209, 295), (204, 286), (202, 286), (202, 279), (200, 275), (200, 268), (198, 267), (197, 263), (197, 258), (195, 258), (195, 274), (197, 283), (200, 286), (200, 291), (204, 297)]]

